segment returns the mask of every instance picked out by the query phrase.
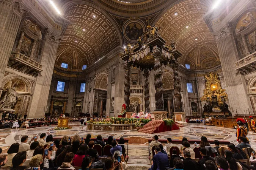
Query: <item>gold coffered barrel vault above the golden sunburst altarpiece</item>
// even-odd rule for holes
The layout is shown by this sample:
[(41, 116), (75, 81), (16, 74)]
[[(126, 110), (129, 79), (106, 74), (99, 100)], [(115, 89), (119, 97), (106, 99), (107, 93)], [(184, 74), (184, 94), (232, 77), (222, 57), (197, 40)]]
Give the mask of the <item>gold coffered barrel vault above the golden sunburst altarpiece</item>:
[(188, 60), (196, 70), (220, 65), (217, 44), (203, 20), (209, 8), (202, 0), (185, 0), (168, 9), (156, 23), (167, 44), (178, 42), (177, 49), (182, 53), (179, 62)]

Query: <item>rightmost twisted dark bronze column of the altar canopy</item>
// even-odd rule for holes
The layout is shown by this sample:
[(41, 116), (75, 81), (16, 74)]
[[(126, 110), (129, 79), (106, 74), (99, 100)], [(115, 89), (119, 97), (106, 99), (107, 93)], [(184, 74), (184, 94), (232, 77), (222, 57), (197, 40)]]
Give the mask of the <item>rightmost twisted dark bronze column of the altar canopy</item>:
[(172, 64), (173, 68), (173, 79), (174, 79), (174, 108), (176, 111), (183, 111), (182, 109), (182, 102), (181, 102), (181, 85), (180, 85), (180, 79), (179, 79), (179, 73), (178, 73), (178, 66), (179, 63), (175, 60)]

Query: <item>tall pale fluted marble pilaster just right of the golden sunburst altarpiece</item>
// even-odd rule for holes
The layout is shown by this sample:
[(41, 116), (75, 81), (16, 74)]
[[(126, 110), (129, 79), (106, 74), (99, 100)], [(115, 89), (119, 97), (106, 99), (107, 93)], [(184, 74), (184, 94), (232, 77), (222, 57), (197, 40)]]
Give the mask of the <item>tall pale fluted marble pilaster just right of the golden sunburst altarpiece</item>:
[[(220, 55), (223, 75), (225, 77), (226, 91), (232, 114), (237, 110), (238, 114), (244, 114), (243, 110), (250, 108), (250, 100), (247, 96), (243, 77), (235, 70), (235, 62), (239, 60), (236, 42), (230, 28), (223, 28), (215, 35)], [(239, 100), (238, 100), (239, 99)]]

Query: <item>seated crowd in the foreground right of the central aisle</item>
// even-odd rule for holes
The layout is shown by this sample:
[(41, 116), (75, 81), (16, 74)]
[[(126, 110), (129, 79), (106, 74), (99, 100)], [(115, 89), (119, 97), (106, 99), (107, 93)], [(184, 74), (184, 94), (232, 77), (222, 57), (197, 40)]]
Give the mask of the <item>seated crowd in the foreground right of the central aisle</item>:
[[(199, 153), (201, 159), (196, 160), (195, 151), (190, 147), (187, 138), (182, 139), (182, 144), (176, 149), (171, 149), (174, 145), (171, 138), (167, 138), (165, 148), (158, 141), (158, 136), (152, 137), (150, 147), (154, 146), (155, 155), (152, 156), (152, 167), (149, 170), (255, 170), (256, 155), (251, 145), (247, 143), (247, 138), (239, 136), (239, 144), (232, 143), (227, 146), (220, 146), (220, 142), (215, 140), (212, 146), (205, 136), (201, 137)], [(171, 153), (170, 153), (171, 149)], [(248, 153), (247, 153), (248, 152)], [(152, 153), (151, 153), (152, 155)], [(248, 158), (248, 155), (250, 156)], [(170, 159), (169, 159), (170, 158)], [(239, 160), (249, 160), (250, 166)]]

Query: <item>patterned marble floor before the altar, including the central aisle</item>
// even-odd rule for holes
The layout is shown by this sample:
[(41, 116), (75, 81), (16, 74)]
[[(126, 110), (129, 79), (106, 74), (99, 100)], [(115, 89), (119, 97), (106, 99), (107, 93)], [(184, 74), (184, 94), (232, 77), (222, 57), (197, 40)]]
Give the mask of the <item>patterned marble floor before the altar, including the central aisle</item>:
[[(14, 142), (20, 142), (20, 138), (23, 135), (28, 135), (29, 138), (32, 138), (35, 135), (40, 136), (41, 133), (46, 133), (47, 135), (52, 134), (53, 137), (79, 134), (80, 137), (84, 138), (86, 134), (91, 134), (92, 138), (96, 138), (99, 134), (101, 134), (103, 138), (108, 138), (108, 136), (112, 135), (114, 138), (123, 137), (129, 139), (129, 166), (150, 166), (148, 160), (148, 139), (151, 139), (155, 134), (140, 133), (137, 131), (90, 131), (86, 129), (86, 126), (79, 126), (79, 123), (73, 124), (72, 129), (69, 130), (53, 130), (54, 127), (56, 127), (56, 125), (31, 129), (0, 129), (0, 147), (3, 149), (3, 153), (6, 153), (9, 146)], [(201, 136), (206, 136), (208, 140), (225, 140), (237, 144), (235, 129), (200, 124), (188, 124), (185, 125), (185, 127), (181, 127), (180, 130), (157, 133), (157, 135), (159, 135), (159, 139), (171, 138), (179, 140), (182, 140), (183, 137), (188, 139), (201, 139)], [(251, 146), (255, 149), (256, 133), (249, 132), (248, 138)]]

